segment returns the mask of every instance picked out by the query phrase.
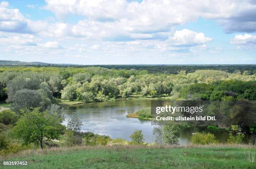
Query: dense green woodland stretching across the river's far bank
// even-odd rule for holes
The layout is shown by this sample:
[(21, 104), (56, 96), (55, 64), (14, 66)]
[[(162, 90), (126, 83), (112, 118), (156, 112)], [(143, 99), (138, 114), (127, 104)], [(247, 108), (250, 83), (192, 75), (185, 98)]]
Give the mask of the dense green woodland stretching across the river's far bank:
[(102, 67), (2, 67), (0, 72), (0, 100), (12, 102), (15, 112), (24, 106), (45, 109), (56, 99), (94, 102), (134, 95), (175, 100), (256, 99), (256, 74), (249, 75), (247, 70), (181, 70), (172, 75)]

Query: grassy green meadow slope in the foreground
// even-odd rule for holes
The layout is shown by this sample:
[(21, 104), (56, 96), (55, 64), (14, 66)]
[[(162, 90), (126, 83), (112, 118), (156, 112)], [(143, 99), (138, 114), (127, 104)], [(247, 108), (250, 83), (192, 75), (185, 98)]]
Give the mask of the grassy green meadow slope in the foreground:
[[(211, 146), (111, 146), (61, 147), (26, 150), (3, 161), (28, 161), (28, 168), (237, 168), (255, 169), (256, 147), (246, 145)], [(8, 167), (17, 168), (17, 167)]]

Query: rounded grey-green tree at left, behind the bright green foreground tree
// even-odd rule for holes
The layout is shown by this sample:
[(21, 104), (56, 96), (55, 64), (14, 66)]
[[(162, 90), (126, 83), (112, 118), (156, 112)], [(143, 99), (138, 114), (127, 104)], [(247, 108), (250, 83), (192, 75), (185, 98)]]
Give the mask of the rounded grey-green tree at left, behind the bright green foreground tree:
[(41, 105), (41, 95), (37, 90), (21, 89), (18, 90), (13, 97), (11, 109), (19, 113), (20, 109), (31, 109), (31, 107), (39, 107)]

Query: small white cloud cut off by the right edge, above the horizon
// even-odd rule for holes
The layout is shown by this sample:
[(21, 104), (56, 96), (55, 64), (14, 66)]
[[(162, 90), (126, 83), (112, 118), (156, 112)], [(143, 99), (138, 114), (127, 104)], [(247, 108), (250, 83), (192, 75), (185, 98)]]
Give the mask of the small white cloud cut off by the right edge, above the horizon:
[(237, 49), (252, 49), (256, 48), (256, 36), (251, 34), (235, 35), (230, 40), (233, 45), (239, 45)]

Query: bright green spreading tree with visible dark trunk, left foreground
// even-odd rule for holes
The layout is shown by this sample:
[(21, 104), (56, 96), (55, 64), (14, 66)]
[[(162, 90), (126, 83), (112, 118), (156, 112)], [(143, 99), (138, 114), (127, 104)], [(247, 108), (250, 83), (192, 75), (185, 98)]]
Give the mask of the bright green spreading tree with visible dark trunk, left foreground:
[(39, 112), (39, 108), (26, 113), (21, 112), (23, 115), (12, 132), (15, 137), (23, 139), (24, 144), (35, 142), (43, 149), (45, 141), (59, 139), (61, 131), (65, 129), (54, 116), (47, 112)]

